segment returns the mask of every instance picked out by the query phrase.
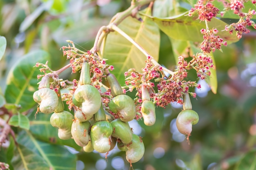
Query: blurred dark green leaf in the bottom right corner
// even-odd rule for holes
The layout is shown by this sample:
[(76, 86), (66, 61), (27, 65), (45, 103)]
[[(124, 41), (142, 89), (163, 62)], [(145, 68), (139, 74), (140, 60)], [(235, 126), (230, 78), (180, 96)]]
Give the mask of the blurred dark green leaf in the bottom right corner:
[(256, 169), (256, 150), (247, 152), (244, 157), (236, 164), (234, 170), (255, 170)]

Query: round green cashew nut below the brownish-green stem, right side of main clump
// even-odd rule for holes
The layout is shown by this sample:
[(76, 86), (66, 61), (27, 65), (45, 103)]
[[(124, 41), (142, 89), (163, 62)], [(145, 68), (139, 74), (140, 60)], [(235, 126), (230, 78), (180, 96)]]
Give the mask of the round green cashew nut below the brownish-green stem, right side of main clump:
[(113, 113), (117, 113), (121, 121), (131, 121), (136, 115), (136, 106), (133, 99), (128, 95), (118, 95), (111, 99), (109, 108)]

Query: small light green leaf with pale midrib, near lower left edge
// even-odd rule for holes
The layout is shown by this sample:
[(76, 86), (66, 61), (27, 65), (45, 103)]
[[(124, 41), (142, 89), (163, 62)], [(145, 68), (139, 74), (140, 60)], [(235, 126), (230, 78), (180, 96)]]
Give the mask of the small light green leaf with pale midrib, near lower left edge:
[(20, 127), (29, 130), (29, 119), (20, 113), (18, 115), (13, 115), (8, 121), (8, 124), (15, 127)]

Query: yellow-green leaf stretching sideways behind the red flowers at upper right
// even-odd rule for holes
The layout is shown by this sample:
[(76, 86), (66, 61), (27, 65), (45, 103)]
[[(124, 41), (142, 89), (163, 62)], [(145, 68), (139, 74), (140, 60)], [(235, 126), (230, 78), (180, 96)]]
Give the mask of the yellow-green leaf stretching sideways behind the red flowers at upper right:
[[(168, 18), (157, 18), (147, 15), (151, 18), (166, 35), (176, 40), (202, 42), (203, 36), (200, 32), (201, 29), (205, 29), (205, 23), (196, 20), (193, 17), (187, 16), (187, 12), (180, 15), (175, 15)], [(213, 18), (208, 23), (209, 28), (216, 28), (219, 30), (218, 35), (228, 43), (237, 42), (238, 38), (235, 34), (231, 35), (228, 31), (222, 31), (225, 29), (227, 23)]]

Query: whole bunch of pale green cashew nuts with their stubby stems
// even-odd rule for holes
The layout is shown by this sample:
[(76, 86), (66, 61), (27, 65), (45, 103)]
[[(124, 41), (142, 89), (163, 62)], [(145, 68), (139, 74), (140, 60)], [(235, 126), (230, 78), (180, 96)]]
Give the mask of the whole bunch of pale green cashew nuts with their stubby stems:
[[(103, 108), (101, 93), (91, 85), (90, 64), (83, 62), (79, 85), (72, 96), (75, 108), (74, 116), (64, 110), (61, 93), (49, 88), (49, 77), (45, 75), (34, 93), (34, 100), (40, 106), (40, 112), (53, 113), (50, 118), (52, 126), (58, 128), (60, 139), (74, 139), (85, 152), (96, 150), (107, 153), (116, 145), (126, 152), (129, 163), (139, 161), (144, 155), (144, 144), (141, 137), (133, 134), (128, 121), (135, 119), (136, 106), (131, 97), (125, 95), (115, 75), (106, 72), (106, 79), (110, 84), (113, 98), (108, 103), (113, 115)], [(141, 88), (141, 114), (144, 124), (155, 124), (155, 105), (151, 101), (145, 86)], [(198, 114), (191, 110), (192, 105), (188, 93), (184, 95), (184, 110), (177, 117), (178, 130), (188, 137), (192, 131), (192, 124), (198, 122)]]

